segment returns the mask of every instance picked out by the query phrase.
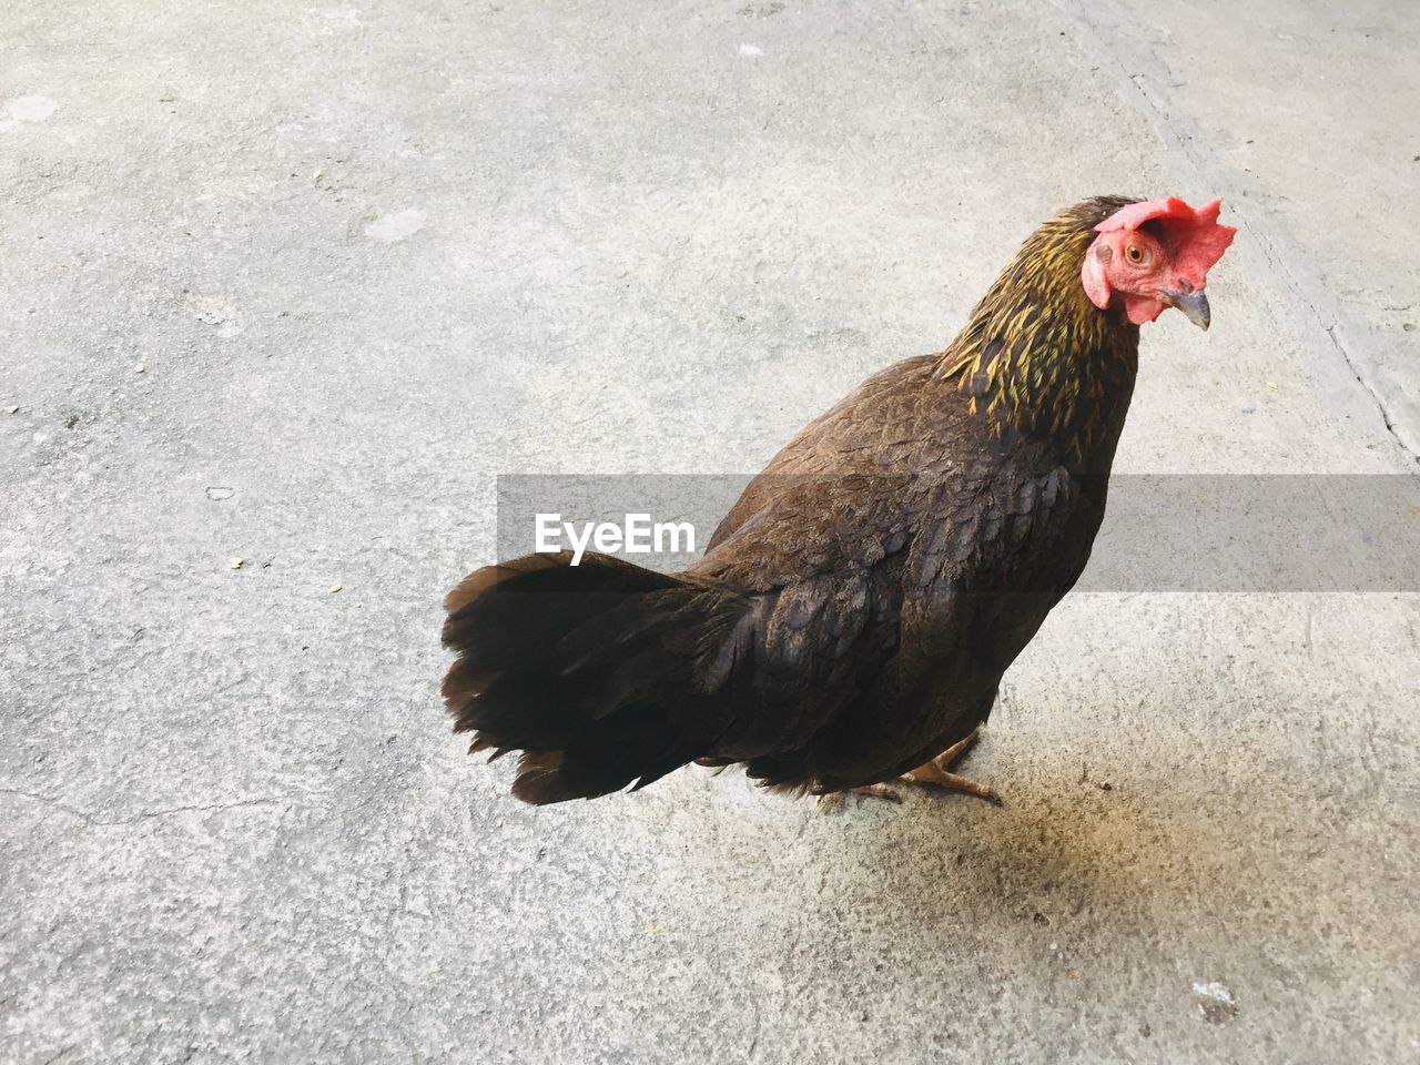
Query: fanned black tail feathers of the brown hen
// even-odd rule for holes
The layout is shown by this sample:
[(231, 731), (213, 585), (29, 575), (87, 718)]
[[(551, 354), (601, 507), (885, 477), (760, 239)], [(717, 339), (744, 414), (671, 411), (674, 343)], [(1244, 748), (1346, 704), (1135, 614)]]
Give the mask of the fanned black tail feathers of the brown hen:
[(750, 601), (586, 554), (527, 555), (444, 599), (443, 696), (470, 753), (524, 751), (534, 802), (642, 788), (710, 751)]

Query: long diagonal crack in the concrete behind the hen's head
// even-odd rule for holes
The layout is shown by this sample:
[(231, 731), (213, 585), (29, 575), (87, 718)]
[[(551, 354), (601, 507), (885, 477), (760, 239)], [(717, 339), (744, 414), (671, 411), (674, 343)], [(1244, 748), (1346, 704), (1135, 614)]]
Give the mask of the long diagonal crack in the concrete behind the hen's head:
[[(1181, 116), (1172, 101), (1156, 87), (1177, 88), (1183, 81), (1177, 78), (1169, 64), (1152, 47), (1133, 44), (1137, 33), (1126, 33), (1126, 21), (1115, 4), (1082, 3), (1081, 0), (1052, 0), (1052, 3), (1085, 31), (1083, 36), (1095, 41), (1102, 51), (1120, 71), (1123, 82), (1132, 89), (1136, 106), (1149, 119), (1154, 131), (1164, 141), (1170, 152), (1181, 156), (1194, 173), (1208, 185), (1210, 189), (1225, 192), (1235, 203), (1254, 202), (1250, 192), (1240, 183), (1235, 172), (1223, 163), (1217, 153), (1204, 145), (1194, 124)], [(1108, 10), (1106, 10), (1108, 9)], [(1336, 297), (1328, 288), (1319, 268), (1298, 268), (1296, 263), (1309, 261), (1294, 241), (1285, 239), (1275, 223), (1269, 227), (1255, 217), (1250, 217), (1245, 210), (1238, 210), (1237, 223), (1262, 253), (1271, 273), (1281, 281), (1281, 287), (1291, 297), (1298, 310), (1306, 318), (1321, 327), (1319, 334), (1325, 334), (1325, 341), (1316, 331), (1304, 334), (1314, 342), (1318, 355), (1322, 351), (1331, 354), (1331, 368), (1349, 381), (1360, 385), (1365, 406), (1358, 402), (1346, 402), (1346, 398), (1335, 396), (1345, 408), (1345, 415), (1356, 416), (1365, 426), (1376, 422), (1372, 432), (1376, 436), (1386, 436), (1403, 453), (1420, 462), (1420, 425), (1410, 426), (1397, 410), (1397, 403), (1380, 388), (1377, 378), (1389, 376), (1376, 358), (1352, 339), (1360, 328), (1355, 325), (1340, 308)], [(1284, 247), (1285, 253), (1284, 254)], [(1298, 317), (1301, 318), (1302, 314)], [(1339, 365), (1336, 365), (1339, 356)], [(1321, 361), (1321, 358), (1318, 359)], [(1403, 396), (1400, 389), (1394, 389)], [(1403, 400), (1402, 400), (1403, 402)]]

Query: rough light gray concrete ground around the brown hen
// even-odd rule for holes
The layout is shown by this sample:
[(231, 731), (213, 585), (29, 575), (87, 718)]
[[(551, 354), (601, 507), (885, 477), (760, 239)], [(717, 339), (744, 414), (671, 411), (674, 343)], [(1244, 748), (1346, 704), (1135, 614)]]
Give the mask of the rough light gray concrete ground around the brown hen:
[(1420, 1061), (1414, 595), (1071, 598), (1004, 809), (531, 809), (436, 696), (496, 474), (753, 471), (1083, 195), (1241, 227), (1123, 467), (1414, 471), (1332, 7), (7, 4), (0, 1058)]

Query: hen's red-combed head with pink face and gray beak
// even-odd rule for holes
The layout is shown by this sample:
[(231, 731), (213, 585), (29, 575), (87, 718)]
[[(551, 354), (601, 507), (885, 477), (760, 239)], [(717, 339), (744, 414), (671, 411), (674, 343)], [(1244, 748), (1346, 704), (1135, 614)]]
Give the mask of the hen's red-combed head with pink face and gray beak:
[(1208, 270), (1223, 257), (1233, 226), (1218, 224), (1213, 200), (1194, 210), (1180, 199), (1130, 203), (1095, 226), (1081, 280), (1095, 307), (1122, 307), (1135, 325), (1170, 307), (1208, 328)]

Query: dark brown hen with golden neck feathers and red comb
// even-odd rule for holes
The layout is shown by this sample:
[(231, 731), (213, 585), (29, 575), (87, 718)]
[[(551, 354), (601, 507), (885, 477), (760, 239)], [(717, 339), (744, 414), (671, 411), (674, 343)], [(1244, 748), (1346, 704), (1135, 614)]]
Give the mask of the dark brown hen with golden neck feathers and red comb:
[(1089, 559), (1139, 327), (1208, 327), (1218, 210), (1102, 196), (1042, 224), (946, 351), (811, 422), (682, 574), (565, 552), (471, 574), (446, 601), (456, 731), (521, 750), (513, 794), (537, 804), (697, 760), (990, 797), (947, 765)]

